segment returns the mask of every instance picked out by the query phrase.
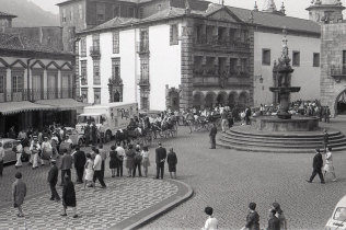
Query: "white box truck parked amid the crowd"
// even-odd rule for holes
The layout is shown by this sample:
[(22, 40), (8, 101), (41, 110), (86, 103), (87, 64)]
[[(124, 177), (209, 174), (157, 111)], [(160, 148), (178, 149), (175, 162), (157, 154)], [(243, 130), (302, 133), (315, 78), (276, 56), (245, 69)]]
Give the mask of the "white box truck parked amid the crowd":
[(76, 130), (84, 135), (86, 124), (95, 124), (97, 129), (103, 126), (105, 141), (108, 142), (116, 131), (126, 129), (130, 118), (138, 116), (137, 103), (114, 102), (102, 105), (86, 106), (77, 117)]

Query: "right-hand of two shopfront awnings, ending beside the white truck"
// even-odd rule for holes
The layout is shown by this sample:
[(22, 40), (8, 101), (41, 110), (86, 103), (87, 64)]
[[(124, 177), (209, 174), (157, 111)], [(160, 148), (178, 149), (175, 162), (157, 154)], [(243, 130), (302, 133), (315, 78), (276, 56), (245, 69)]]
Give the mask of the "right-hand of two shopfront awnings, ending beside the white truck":
[(78, 102), (73, 99), (51, 99), (51, 100), (38, 100), (35, 102), (38, 105), (49, 105), (56, 107), (58, 111), (71, 111), (90, 106), (82, 102)]

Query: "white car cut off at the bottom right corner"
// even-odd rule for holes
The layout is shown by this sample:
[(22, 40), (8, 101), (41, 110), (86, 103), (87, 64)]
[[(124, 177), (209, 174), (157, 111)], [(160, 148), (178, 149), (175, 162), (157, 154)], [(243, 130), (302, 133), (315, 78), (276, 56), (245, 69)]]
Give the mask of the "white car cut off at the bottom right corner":
[(325, 230), (346, 230), (346, 195), (336, 204)]

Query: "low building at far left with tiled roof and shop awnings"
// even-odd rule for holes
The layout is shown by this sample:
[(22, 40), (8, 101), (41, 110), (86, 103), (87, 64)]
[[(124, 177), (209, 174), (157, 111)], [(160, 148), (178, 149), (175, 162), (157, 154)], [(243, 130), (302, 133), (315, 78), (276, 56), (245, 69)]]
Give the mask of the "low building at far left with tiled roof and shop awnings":
[(74, 56), (19, 34), (0, 33), (0, 134), (73, 124)]

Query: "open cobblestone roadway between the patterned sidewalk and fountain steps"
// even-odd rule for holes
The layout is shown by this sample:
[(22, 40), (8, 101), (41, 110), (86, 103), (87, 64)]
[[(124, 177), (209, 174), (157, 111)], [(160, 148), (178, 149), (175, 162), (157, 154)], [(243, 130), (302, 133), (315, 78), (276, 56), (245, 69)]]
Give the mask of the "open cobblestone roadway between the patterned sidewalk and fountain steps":
[[(346, 134), (345, 117), (327, 126)], [(312, 184), (305, 182), (312, 172), (313, 150), (311, 154), (210, 150), (207, 133), (185, 134), (163, 145), (174, 147), (178, 180), (189, 184), (195, 195), (146, 229), (200, 228), (207, 218), (206, 206), (214, 207), (220, 228), (241, 229), (250, 202), (257, 204), (261, 228), (267, 227), (268, 209), (278, 202), (289, 229), (323, 229), (336, 203), (346, 195), (346, 152), (334, 153), (338, 181), (327, 176), (322, 185), (318, 177)]]

